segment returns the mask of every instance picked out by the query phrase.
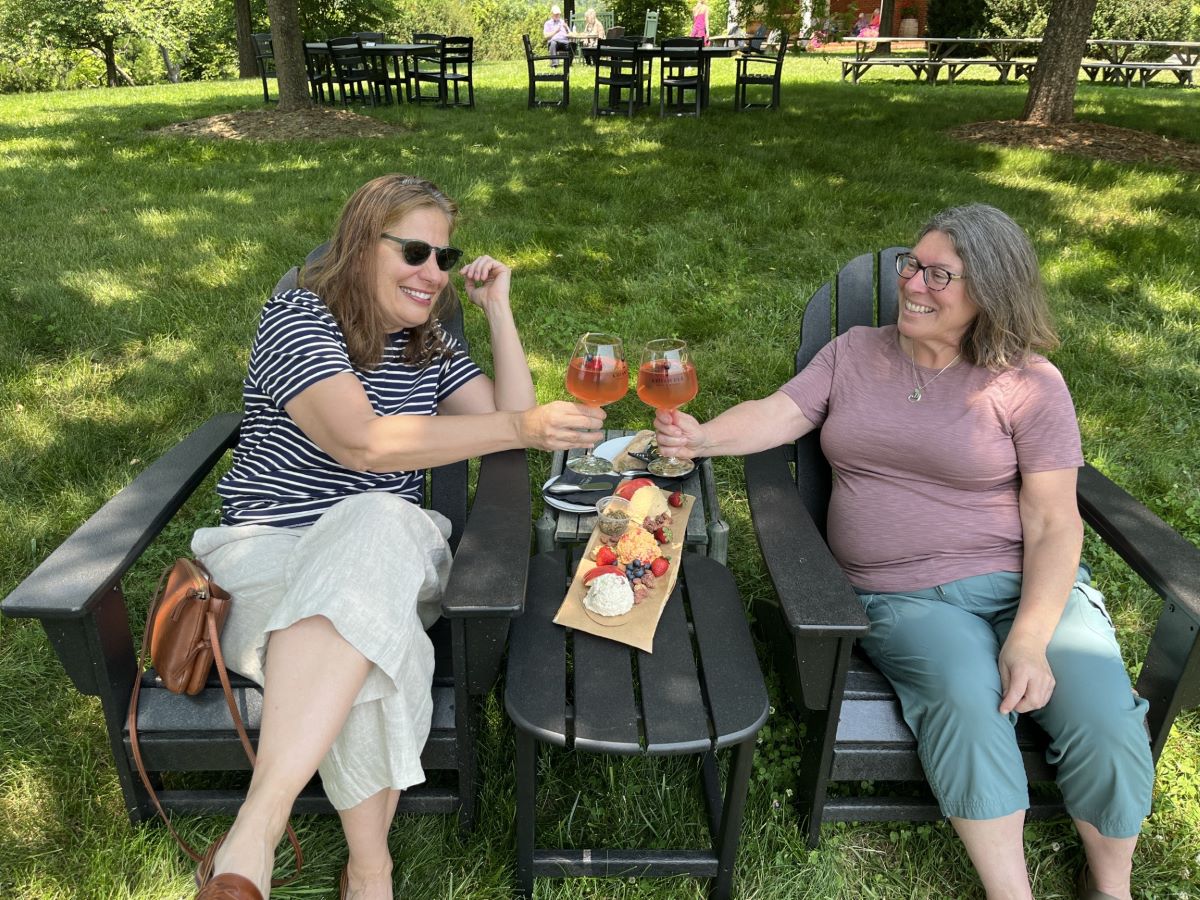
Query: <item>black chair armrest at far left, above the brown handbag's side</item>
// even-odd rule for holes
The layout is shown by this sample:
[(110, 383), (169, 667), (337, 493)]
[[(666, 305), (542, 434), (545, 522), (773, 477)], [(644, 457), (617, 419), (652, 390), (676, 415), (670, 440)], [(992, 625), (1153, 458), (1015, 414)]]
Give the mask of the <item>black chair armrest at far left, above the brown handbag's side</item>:
[(42, 560), (0, 605), (4, 613), (86, 616), (233, 445), (240, 422), (239, 413), (216, 415), (163, 454)]

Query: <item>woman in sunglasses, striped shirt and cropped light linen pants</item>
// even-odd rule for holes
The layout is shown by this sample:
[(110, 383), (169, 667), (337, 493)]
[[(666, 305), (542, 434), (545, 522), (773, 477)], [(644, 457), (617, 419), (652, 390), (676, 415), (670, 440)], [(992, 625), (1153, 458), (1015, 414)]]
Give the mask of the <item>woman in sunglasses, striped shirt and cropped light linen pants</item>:
[(269, 893), (293, 800), (319, 770), (349, 862), (342, 896), (390, 898), (388, 829), (424, 780), (450, 523), (421, 509), (422, 470), (511, 448), (601, 438), (604, 412), (536, 406), (509, 268), (460, 270), (487, 318), (494, 380), (442, 328), (457, 209), (428, 181), (378, 178), (346, 204), (300, 288), (263, 308), (245, 416), (221, 479), (222, 524), (192, 548), (236, 599), (228, 666), (264, 686), (258, 763), (200, 898)]

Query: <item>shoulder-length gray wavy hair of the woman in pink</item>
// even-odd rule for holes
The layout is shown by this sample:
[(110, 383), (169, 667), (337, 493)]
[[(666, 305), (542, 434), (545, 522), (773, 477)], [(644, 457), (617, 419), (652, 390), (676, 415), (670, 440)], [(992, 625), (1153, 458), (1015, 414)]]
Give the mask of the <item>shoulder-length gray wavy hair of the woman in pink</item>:
[(1058, 346), (1028, 235), (995, 206), (973, 203), (934, 216), (920, 238), (941, 232), (962, 258), (962, 284), (979, 314), (962, 337), (962, 355), (994, 372), (1020, 366)]

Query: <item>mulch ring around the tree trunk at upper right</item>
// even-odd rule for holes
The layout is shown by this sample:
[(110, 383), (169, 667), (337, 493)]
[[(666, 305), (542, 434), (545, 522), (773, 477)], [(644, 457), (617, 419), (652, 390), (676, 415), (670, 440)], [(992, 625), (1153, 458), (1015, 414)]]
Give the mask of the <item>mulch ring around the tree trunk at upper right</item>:
[(1200, 172), (1200, 144), (1099, 122), (973, 122), (950, 128), (948, 133), (959, 140), (978, 144), (1057, 150), (1105, 162), (1165, 163), (1184, 172)]

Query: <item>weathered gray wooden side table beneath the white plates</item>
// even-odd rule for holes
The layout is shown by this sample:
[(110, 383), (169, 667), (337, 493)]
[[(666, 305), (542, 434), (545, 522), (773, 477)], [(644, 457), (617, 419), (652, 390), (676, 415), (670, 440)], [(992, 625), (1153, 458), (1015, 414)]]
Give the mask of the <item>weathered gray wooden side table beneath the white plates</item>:
[[(605, 432), (605, 440), (634, 433), (623, 428), (611, 428)], [(551, 460), (550, 474), (552, 476), (562, 475), (566, 460), (575, 456), (582, 456), (582, 451), (571, 450), (570, 454), (564, 454), (562, 450), (556, 450)], [(709, 556), (724, 565), (730, 551), (730, 526), (721, 518), (721, 503), (716, 497), (713, 461), (701, 460), (688, 478), (679, 479), (678, 485), (680, 491), (700, 500), (691, 509), (684, 547), (694, 553)], [(600, 494), (596, 494), (596, 499), (600, 499)], [(574, 544), (586, 544), (595, 522), (594, 514), (562, 512), (545, 505), (541, 516), (534, 522), (538, 552), (545, 553)]]

